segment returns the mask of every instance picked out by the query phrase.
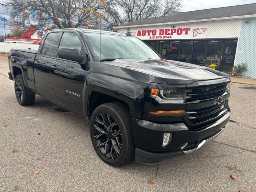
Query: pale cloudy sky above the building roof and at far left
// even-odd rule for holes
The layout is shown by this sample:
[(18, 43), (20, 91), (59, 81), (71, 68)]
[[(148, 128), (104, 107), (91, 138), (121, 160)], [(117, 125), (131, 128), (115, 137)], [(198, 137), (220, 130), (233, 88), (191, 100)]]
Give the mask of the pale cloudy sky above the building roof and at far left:
[[(2, 3), (3, 0), (0, 0)], [(256, 0), (183, 0), (182, 12), (194, 11), (208, 8), (226, 7), (233, 5), (256, 3)], [(8, 12), (0, 6), (0, 16), (8, 18)], [(10, 29), (6, 27), (6, 34), (10, 32)], [(0, 21), (0, 35), (4, 34), (4, 22)]]

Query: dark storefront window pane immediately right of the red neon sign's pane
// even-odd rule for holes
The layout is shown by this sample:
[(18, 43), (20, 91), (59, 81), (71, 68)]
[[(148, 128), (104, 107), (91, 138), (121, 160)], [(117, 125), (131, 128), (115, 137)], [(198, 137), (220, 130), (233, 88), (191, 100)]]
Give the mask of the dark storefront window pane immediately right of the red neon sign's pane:
[(191, 63), (193, 41), (182, 41), (180, 47), (180, 61)]

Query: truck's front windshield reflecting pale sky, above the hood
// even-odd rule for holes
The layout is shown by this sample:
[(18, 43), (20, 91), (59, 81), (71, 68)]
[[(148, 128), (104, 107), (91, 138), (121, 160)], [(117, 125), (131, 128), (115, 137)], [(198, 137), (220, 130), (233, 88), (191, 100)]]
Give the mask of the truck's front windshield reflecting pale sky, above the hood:
[(156, 52), (138, 38), (114, 34), (86, 33), (96, 57), (108, 59), (161, 59)]

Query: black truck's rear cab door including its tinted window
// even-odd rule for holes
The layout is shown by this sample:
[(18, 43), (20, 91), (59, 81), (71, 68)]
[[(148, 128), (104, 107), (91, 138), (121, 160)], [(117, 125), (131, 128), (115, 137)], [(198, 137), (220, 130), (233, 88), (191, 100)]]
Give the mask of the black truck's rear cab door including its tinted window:
[(52, 56), (56, 54), (56, 40), (59, 32), (48, 33), (42, 47), (34, 60), (34, 80), (36, 91), (51, 99), (50, 96), (50, 65)]

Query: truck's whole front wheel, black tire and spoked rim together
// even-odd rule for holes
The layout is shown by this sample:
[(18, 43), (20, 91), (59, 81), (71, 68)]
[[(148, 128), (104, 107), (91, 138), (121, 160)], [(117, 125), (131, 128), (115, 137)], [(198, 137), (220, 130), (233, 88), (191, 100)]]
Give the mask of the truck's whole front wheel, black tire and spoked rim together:
[(134, 156), (128, 106), (120, 102), (98, 106), (90, 120), (90, 136), (94, 150), (104, 162), (111, 166), (126, 164)]

